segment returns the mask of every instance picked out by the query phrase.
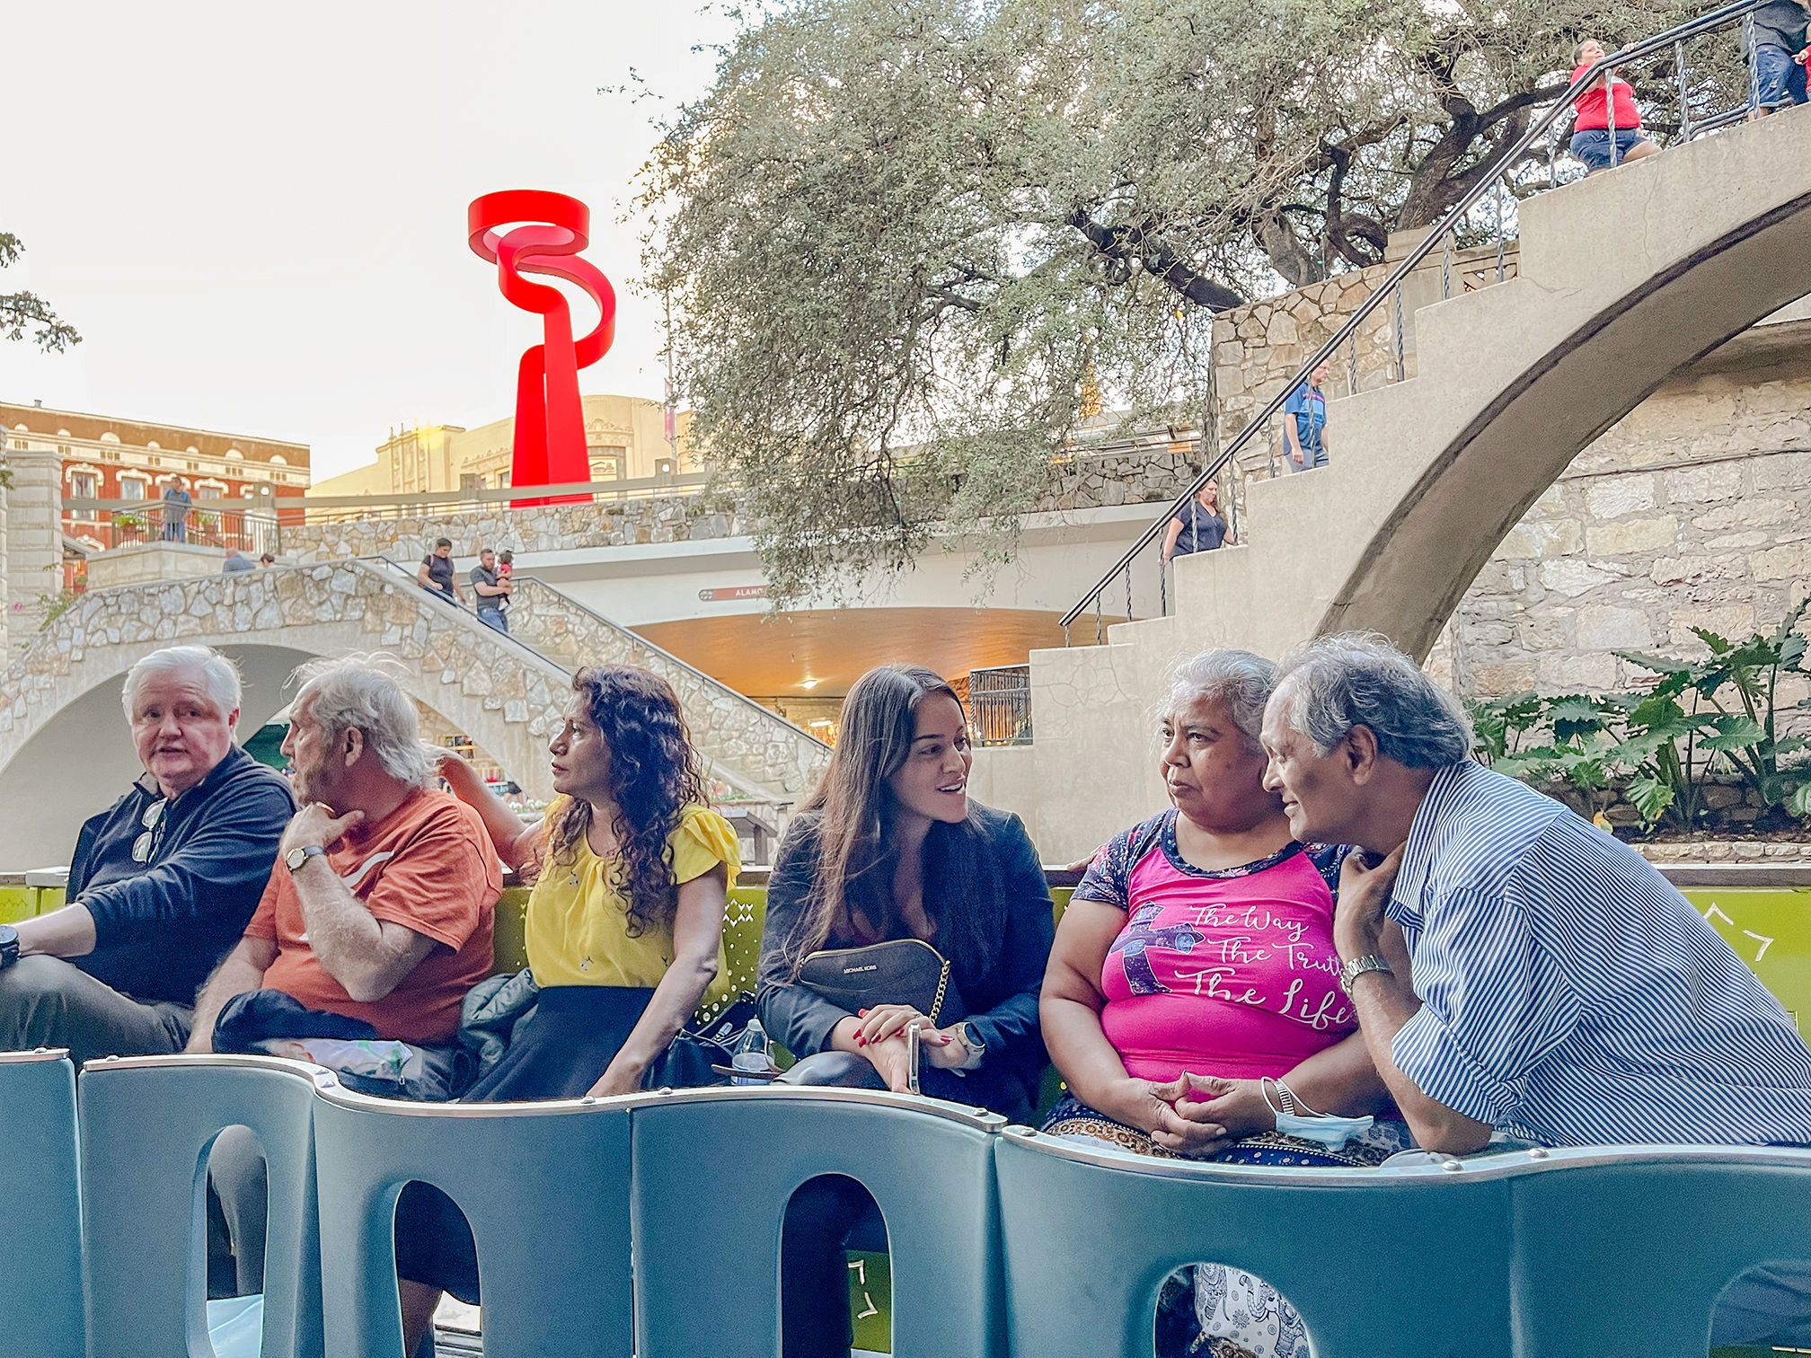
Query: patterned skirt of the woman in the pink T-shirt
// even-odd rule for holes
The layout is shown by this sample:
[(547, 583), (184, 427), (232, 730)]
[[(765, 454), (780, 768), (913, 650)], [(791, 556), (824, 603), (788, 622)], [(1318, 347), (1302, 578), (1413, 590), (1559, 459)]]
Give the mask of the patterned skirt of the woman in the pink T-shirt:
[[(1188, 1159), (1157, 1146), (1145, 1132), (1088, 1108), (1074, 1095), (1063, 1095), (1043, 1130), (1134, 1155)], [(1338, 1150), (1327, 1150), (1318, 1141), (1264, 1132), (1201, 1159), (1204, 1164), (1369, 1170), (1413, 1146), (1404, 1123), (1380, 1119)], [(1157, 1296), (1155, 1327), (1157, 1358), (1309, 1358), (1308, 1327), (1288, 1298), (1255, 1273), (1224, 1264), (1195, 1264), (1172, 1273)]]

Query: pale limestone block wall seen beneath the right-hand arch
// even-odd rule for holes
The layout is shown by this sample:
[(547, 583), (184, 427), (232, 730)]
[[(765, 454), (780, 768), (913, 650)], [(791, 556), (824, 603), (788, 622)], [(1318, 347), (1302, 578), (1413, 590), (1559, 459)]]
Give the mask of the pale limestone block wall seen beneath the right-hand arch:
[(1811, 322), (1768, 331), (1661, 387), (1534, 503), (1434, 655), (1456, 688), (1639, 684), (1610, 652), (1702, 655), (1690, 628), (1746, 636), (1811, 592)]

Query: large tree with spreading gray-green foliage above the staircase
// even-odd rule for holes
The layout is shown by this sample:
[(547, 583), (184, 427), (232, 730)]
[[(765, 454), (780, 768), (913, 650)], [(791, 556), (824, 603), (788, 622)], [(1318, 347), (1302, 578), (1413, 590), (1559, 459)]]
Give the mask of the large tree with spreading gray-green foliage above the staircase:
[[(1501, 167), (1565, 89), (1579, 36), (1615, 43), (1695, 13), (743, 11), (712, 87), (645, 167), (645, 275), (677, 319), (692, 436), (735, 487), (775, 601), (904, 569), (934, 534), (1011, 529), (1085, 391), (1219, 442), (1210, 311), (1382, 261), (1393, 230), (1436, 221)], [(1728, 83), (1690, 78), (1701, 101)], [(1545, 185), (1543, 156), (1509, 170)]]

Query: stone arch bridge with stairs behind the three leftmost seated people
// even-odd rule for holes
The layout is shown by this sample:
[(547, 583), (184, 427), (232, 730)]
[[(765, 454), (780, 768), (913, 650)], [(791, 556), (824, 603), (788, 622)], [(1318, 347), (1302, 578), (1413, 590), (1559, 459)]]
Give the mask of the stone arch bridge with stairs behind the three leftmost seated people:
[(120, 710), (125, 672), (168, 645), (203, 643), (244, 672), (239, 735), (288, 703), (302, 661), (382, 650), (424, 710), (467, 733), (534, 797), (549, 797), (547, 739), (581, 663), (630, 663), (679, 695), (708, 773), (732, 795), (786, 808), (828, 748), (782, 717), (532, 578), (505, 637), (382, 561), (279, 567), (91, 590), (0, 674), (0, 864), (67, 862), (81, 820), (139, 773)]

